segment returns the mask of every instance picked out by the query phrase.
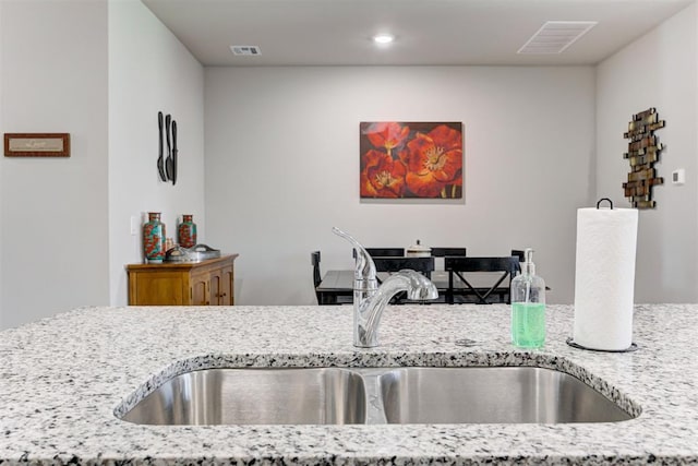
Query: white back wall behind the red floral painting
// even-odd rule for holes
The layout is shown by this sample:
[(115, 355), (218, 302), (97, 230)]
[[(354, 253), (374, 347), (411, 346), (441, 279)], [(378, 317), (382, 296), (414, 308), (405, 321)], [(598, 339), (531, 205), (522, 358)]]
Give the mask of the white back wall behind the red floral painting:
[[(206, 69), (210, 244), (240, 253), (237, 302), (315, 302), (310, 252), (365, 246), (533, 247), (550, 302), (571, 302), (576, 210), (593, 200), (594, 70)], [(361, 202), (360, 121), (462, 121), (465, 202)]]

